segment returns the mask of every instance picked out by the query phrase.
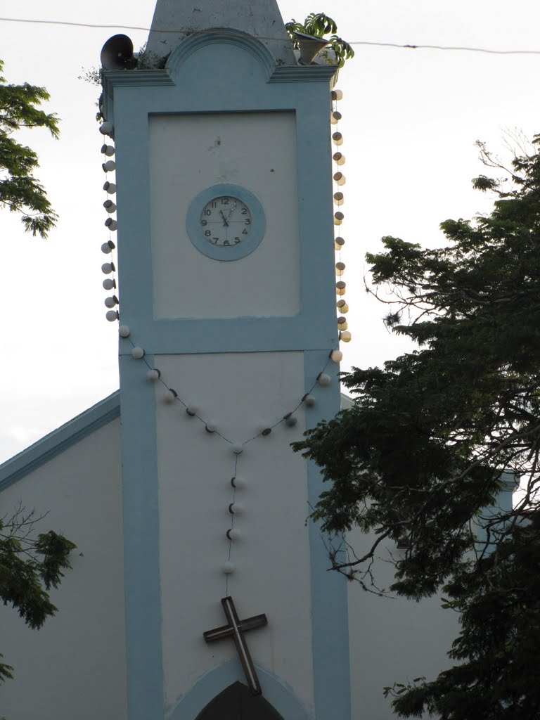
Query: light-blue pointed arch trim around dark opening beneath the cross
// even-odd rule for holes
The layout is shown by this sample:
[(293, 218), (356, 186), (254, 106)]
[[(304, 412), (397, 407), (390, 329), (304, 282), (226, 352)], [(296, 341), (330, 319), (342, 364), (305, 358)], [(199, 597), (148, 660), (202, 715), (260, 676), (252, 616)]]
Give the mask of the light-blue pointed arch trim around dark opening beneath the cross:
[[(300, 703), (292, 689), (276, 678), (272, 672), (257, 665), (257, 674), (264, 697), (284, 717), (284, 720), (315, 720), (315, 715)], [(243, 670), (238, 660), (229, 660), (215, 667), (199, 678), (174, 708), (166, 712), (167, 720), (194, 720), (215, 696), (237, 680), (244, 682)], [(319, 719), (319, 716), (317, 718)], [(333, 716), (328, 718), (321, 716), (320, 720), (333, 720)]]

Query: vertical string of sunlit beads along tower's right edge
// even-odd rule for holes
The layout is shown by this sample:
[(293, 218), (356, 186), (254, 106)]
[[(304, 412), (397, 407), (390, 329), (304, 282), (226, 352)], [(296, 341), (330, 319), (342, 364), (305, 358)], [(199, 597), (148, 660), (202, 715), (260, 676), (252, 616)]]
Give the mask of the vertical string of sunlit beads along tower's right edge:
[[(343, 98), (343, 92), (341, 90), (332, 90), (331, 91), (331, 97), (332, 97), (332, 112), (330, 114), (330, 124), (333, 126), (338, 125), (338, 122), (341, 120), (341, 112), (338, 111), (338, 101)], [(343, 135), (339, 130), (335, 130), (332, 134), (332, 141), (334, 145), (336, 145), (336, 148), (341, 147), (343, 144)], [(345, 156), (341, 152), (341, 150), (336, 150), (336, 152), (333, 154), (332, 159), (335, 163), (335, 170), (336, 172), (333, 174), (333, 181), (335, 183), (334, 186), (334, 194), (333, 194), (333, 201), (334, 204), (337, 207), (337, 210), (334, 212), (334, 227), (336, 228), (336, 232), (338, 232), (338, 229), (343, 222), (343, 219), (345, 215), (343, 214), (341, 207), (343, 206), (343, 203), (345, 202), (345, 197), (343, 195), (343, 185), (346, 183), (346, 177), (341, 171), (341, 168), (345, 164)], [(346, 282), (343, 280), (343, 274), (345, 272), (345, 263), (341, 259), (341, 250), (343, 246), (345, 245), (345, 240), (340, 235), (336, 235), (334, 238), (334, 250), (336, 251), (336, 295), (338, 295), (338, 301), (336, 302), (336, 307), (338, 309), (338, 330), (339, 330), (339, 339), (343, 341), (343, 343), (348, 343), (351, 341), (351, 333), (348, 330), (348, 324), (347, 324), (347, 318), (345, 317), (346, 313), (348, 312), (348, 305), (346, 303), (345, 298), (343, 295), (346, 292)]]

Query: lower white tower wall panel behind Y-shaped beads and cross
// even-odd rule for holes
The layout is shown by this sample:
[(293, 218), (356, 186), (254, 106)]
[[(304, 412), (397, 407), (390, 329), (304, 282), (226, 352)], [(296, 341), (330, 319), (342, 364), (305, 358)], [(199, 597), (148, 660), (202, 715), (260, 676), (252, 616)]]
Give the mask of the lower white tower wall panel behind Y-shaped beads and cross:
[[(274, 424), (303, 395), (302, 353), (161, 356), (159, 363), (179, 396), (197, 403), (202, 418), (233, 441), (246, 441), (258, 426)], [(243, 539), (233, 544), (236, 571), (226, 588), (221, 568), (228, 559), (235, 455), (179, 403), (163, 404), (162, 395), (158, 385), (166, 703), (174, 707), (200, 675), (237, 657), (232, 641), (207, 645), (202, 637), (225, 624), (220, 599), (228, 592), (240, 618), (268, 616), (268, 627), (247, 635), (253, 660), (285, 678), (312, 706), (307, 477), (305, 462), (289, 448), (301, 436), (303, 413), (296, 428), (282, 423), (238, 456), (246, 487), (236, 500), (246, 512), (235, 520)]]

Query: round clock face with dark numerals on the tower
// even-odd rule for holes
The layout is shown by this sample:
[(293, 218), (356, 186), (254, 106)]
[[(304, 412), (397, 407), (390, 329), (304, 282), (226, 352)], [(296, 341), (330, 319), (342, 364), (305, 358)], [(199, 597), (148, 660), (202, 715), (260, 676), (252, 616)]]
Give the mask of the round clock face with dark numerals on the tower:
[(200, 226), (210, 245), (233, 248), (248, 240), (253, 218), (246, 202), (233, 195), (219, 195), (202, 208)]

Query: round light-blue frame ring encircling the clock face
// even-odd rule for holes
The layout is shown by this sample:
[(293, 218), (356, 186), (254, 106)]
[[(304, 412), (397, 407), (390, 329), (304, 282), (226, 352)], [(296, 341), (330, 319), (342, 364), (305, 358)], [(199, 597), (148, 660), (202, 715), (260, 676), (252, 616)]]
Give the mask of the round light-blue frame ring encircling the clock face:
[[(208, 202), (223, 195), (237, 198), (245, 203), (251, 212), (251, 231), (248, 237), (238, 245), (228, 247), (209, 243), (201, 228), (202, 209)], [(219, 183), (202, 190), (189, 203), (186, 214), (186, 230), (193, 245), (203, 255), (214, 260), (239, 260), (252, 253), (260, 245), (266, 233), (266, 215), (261, 201), (251, 190), (233, 183)]]

